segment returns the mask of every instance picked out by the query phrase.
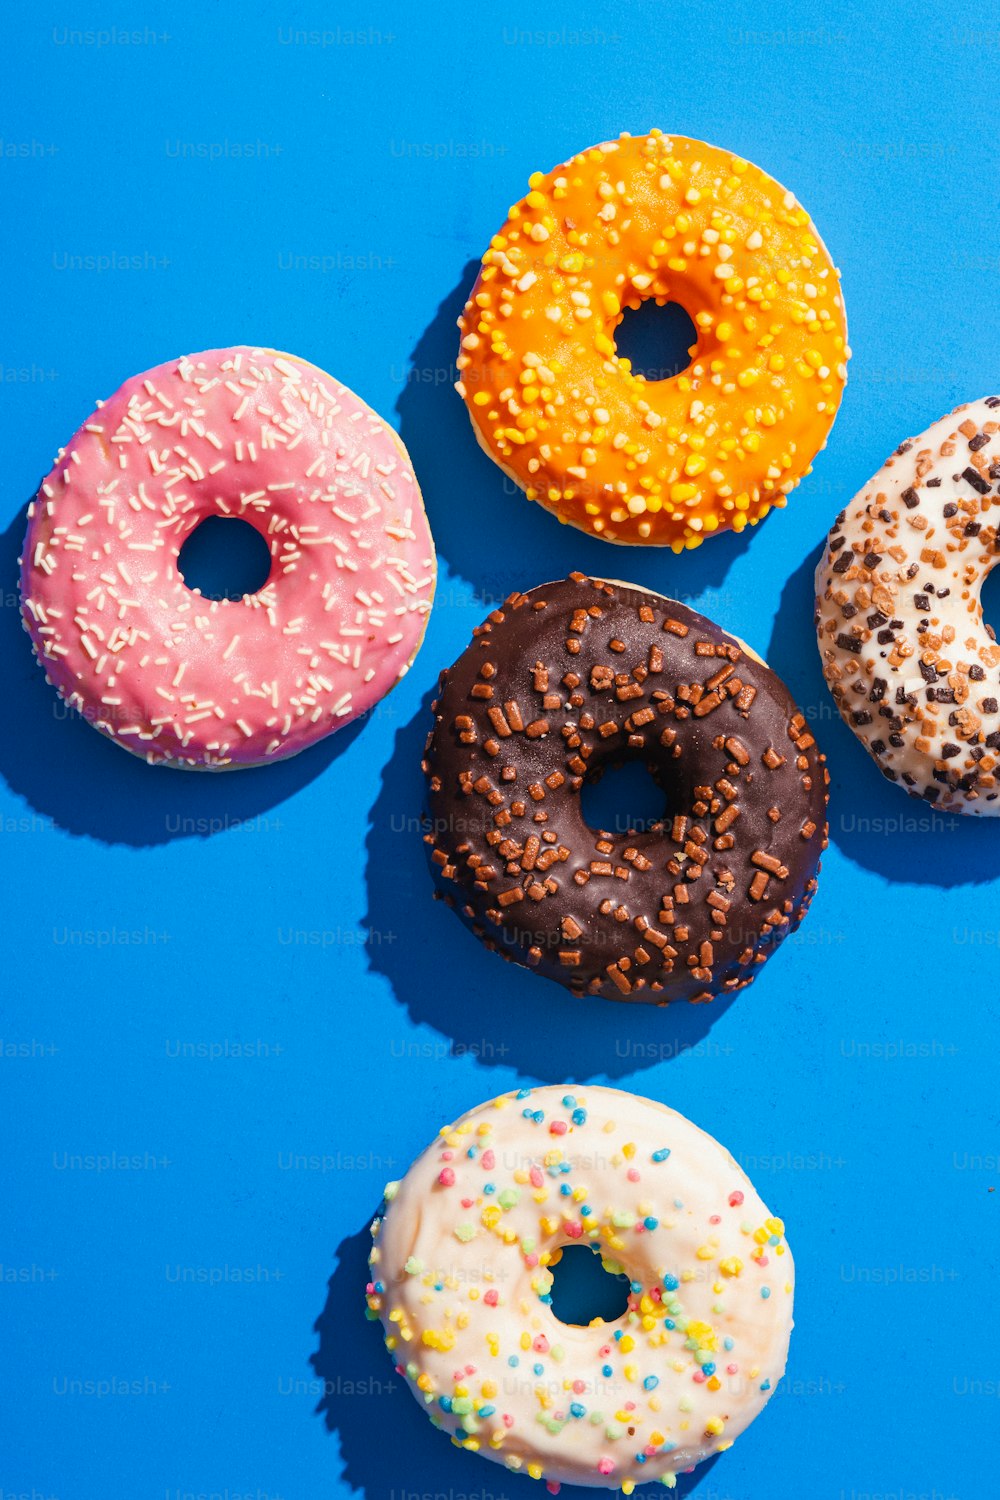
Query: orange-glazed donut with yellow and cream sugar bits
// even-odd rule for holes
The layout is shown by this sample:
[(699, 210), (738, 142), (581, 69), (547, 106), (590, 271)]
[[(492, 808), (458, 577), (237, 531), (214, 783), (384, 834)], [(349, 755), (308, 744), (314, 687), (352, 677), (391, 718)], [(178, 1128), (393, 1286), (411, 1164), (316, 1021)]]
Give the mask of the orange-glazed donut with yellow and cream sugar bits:
[[(847, 380), (840, 276), (805, 208), (705, 141), (604, 141), (547, 174), (490, 240), (459, 318), (457, 390), (489, 456), (606, 542), (699, 546), (810, 472)], [(688, 368), (615, 352), (625, 308), (676, 302)]]

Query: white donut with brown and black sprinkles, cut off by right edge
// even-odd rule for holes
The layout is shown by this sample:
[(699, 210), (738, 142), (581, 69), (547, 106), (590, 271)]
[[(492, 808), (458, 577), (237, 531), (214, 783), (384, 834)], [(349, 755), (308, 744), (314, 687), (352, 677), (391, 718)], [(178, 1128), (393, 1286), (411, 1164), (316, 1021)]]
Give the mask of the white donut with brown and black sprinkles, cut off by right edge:
[(1000, 396), (903, 442), (834, 522), (816, 570), (823, 675), (889, 782), (1000, 816)]

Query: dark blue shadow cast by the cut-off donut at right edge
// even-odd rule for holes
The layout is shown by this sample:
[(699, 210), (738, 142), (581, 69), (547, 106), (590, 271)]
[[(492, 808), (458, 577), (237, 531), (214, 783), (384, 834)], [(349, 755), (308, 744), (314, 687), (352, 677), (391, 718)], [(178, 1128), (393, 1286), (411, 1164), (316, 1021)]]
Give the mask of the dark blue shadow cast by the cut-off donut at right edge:
[[(813, 627), (820, 543), (792, 573), (768, 662), (789, 684), (831, 772), (831, 843), (855, 864), (909, 885), (975, 885), (1000, 873), (996, 819), (936, 810), (888, 782), (841, 720)], [(820, 888), (823, 876), (820, 874)], [(808, 921), (808, 916), (807, 916)]]

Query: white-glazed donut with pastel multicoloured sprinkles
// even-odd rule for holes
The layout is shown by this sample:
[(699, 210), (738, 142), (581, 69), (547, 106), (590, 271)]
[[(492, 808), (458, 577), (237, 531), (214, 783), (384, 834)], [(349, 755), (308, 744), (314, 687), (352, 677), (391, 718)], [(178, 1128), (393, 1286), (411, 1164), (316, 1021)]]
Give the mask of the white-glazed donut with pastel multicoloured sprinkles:
[[(673, 1485), (784, 1372), (784, 1224), (717, 1140), (634, 1094), (481, 1104), (387, 1186), (372, 1236), (369, 1317), (435, 1426), (550, 1486)], [(556, 1318), (567, 1245), (628, 1276), (616, 1322)]]

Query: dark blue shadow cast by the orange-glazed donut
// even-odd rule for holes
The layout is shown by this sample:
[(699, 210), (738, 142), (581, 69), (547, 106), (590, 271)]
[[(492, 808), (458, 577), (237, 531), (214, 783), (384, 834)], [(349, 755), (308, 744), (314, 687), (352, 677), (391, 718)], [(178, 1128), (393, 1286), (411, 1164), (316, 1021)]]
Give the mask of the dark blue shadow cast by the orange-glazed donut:
[(514, 590), (574, 570), (625, 578), (697, 608), (699, 596), (718, 588), (750, 544), (751, 528), (712, 537), (681, 556), (669, 548), (615, 546), (561, 525), (528, 501), (480, 448), (465, 402), (453, 388), (459, 374), (457, 320), (478, 268), (478, 261), (465, 266), (421, 333), (408, 369), (400, 372), (403, 388), (396, 402), (399, 432), (420, 480), (438, 552), (453, 573), (472, 585), (487, 610)]

